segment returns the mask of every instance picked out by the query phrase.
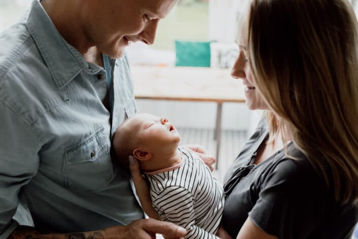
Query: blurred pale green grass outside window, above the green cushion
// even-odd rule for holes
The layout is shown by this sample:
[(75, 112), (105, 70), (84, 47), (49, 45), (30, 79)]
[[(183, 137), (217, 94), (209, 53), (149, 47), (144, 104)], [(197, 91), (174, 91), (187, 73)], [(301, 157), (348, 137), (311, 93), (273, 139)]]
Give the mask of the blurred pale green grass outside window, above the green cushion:
[(209, 4), (194, 2), (177, 5), (160, 20), (153, 47), (174, 50), (175, 40), (207, 41), (209, 38)]

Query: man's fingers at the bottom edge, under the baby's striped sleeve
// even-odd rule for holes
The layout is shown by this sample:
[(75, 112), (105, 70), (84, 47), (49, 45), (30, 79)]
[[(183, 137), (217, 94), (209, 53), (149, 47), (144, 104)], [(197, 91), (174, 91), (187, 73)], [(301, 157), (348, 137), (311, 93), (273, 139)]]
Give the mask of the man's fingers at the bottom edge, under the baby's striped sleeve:
[(160, 233), (166, 237), (179, 238), (186, 235), (186, 230), (170, 222), (146, 219), (143, 229), (147, 232)]

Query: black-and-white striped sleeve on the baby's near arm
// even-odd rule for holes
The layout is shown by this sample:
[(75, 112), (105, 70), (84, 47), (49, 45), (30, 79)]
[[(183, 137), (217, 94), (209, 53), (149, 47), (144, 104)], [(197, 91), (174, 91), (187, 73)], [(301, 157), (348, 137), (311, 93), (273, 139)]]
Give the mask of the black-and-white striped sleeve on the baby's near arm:
[(153, 207), (159, 217), (185, 228), (187, 234), (184, 238), (219, 238), (196, 225), (192, 195), (188, 190), (172, 186), (166, 188), (156, 198)]

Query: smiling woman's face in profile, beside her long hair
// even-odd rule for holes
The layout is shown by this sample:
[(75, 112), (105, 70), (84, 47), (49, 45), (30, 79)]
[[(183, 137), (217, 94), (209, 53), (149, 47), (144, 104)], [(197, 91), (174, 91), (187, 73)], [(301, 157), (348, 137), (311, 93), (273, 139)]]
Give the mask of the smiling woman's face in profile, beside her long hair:
[(245, 85), (246, 105), (250, 110), (269, 109), (264, 98), (259, 94), (251, 77), (250, 64), (247, 54), (247, 26), (243, 23), (241, 34), (238, 37), (239, 56), (231, 71), (232, 77), (241, 79)]

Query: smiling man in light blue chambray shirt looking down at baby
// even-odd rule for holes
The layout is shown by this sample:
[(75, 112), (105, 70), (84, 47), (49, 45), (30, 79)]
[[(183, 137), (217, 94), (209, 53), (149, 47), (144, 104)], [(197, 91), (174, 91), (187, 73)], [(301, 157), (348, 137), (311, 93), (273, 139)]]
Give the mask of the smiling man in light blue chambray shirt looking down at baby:
[(136, 113), (123, 48), (152, 44), (176, 3), (35, 0), (0, 36), (0, 238), (185, 235), (143, 219), (110, 156)]

